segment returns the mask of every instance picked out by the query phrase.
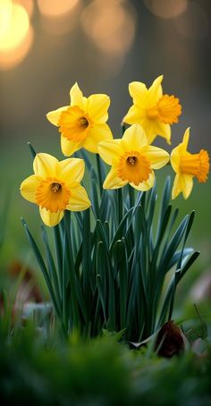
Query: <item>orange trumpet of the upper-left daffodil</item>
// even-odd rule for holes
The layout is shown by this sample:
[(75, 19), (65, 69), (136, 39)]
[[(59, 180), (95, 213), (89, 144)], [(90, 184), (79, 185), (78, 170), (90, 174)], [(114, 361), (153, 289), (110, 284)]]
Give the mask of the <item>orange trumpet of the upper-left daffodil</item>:
[(67, 140), (83, 141), (89, 135), (89, 117), (78, 106), (70, 106), (63, 111), (59, 119), (59, 132)]

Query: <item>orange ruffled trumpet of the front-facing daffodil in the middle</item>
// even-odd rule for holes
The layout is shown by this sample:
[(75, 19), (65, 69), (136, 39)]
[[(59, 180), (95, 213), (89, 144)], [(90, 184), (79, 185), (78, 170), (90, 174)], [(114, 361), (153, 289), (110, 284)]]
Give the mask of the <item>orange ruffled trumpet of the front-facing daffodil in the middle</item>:
[(122, 181), (139, 183), (148, 181), (152, 172), (148, 158), (138, 151), (127, 151), (121, 157), (117, 165), (118, 176)]

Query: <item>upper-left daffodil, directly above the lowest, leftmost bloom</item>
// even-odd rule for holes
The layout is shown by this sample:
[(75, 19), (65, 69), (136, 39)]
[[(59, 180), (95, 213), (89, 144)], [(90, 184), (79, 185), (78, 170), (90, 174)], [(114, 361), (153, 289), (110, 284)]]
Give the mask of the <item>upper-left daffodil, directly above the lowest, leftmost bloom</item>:
[(84, 97), (77, 83), (70, 90), (71, 106), (60, 107), (46, 114), (50, 123), (59, 127), (64, 156), (80, 148), (97, 153), (99, 141), (112, 139), (106, 124), (110, 98), (106, 95)]

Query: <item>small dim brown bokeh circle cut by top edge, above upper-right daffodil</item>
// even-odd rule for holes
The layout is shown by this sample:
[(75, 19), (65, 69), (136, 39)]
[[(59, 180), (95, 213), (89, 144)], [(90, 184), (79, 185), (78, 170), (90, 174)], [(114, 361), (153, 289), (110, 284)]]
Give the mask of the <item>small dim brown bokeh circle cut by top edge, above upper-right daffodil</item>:
[(188, 2), (187, 0), (144, 0), (150, 13), (163, 19), (172, 19), (181, 13), (184, 13)]

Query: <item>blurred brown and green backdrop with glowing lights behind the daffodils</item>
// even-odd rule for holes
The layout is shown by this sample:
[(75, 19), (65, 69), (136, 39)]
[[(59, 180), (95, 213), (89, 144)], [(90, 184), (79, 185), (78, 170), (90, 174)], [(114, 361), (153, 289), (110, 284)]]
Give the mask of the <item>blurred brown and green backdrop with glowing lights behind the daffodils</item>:
[[(210, 150), (210, 9), (209, 0), (0, 0), (0, 206), (6, 201), (9, 207), (2, 268), (31, 255), (21, 216), (39, 235), (37, 207), (19, 194), (21, 181), (32, 173), (26, 143), (63, 157), (46, 113), (69, 103), (75, 81), (85, 96), (111, 97), (109, 124), (119, 137), (131, 106), (129, 82), (149, 86), (163, 73), (164, 92), (179, 97), (182, 106), (173, 147), (190, 126), (190, 152)], [(156, 145), (171, 150), (163, 140)], [(164, 173), (158, 174), (160, 185)], [(190, 199), (179, 198), (176, 206), (181, 214), (197, 212), (191, 238), (202, 251), (198, 274), (207, 272), (210, 181), (196, 181)]]

